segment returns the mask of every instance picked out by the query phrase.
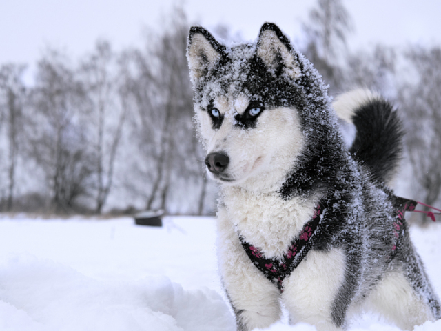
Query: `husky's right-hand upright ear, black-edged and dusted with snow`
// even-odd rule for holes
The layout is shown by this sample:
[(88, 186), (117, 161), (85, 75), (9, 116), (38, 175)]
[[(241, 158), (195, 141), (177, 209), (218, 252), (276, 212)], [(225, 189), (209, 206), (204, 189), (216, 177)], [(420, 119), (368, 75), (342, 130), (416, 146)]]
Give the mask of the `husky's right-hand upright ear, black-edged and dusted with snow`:
[(265, 23), (260, 28), (257, 55), (269, 71), (276, 74), (276, 76), (283, 72), (291, 79), (300, 76), (297, 55), (294, 54), (289, 39), (274, 23)]

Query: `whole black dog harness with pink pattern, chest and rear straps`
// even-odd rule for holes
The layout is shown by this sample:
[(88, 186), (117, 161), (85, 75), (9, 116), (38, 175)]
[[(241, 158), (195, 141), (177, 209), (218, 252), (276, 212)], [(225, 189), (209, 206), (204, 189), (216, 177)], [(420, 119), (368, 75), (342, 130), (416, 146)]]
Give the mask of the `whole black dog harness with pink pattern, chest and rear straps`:
[[(396, 256), (400, 247), (401, 241), (407, 232), (407, 226), (404, 223), (404, 212), (424, 212), (428, 217), (431, 217), (435, 221), (434, 214), (441, 214), (441, 210), (433, 208), (430, 205), (420, 203), (421, 205), (433, 208), (440, 212), (425, 212), (415, 210), (417, 201), (411, 199), (405, 199), (401, 197), (393, 196), (393, 206), (395, 207), (395, 221), (393, 221), (393, 245), (391, 247), (391, 259)], [(277, 285), (280, 292), (283, 292), (283, 280), (288, 277), (294, 269), (302, 262), (306, 254), (314, 247), (314, 244), (320, 239), (320, 235), (323, 232), (322, 220), (327, 212), (327, 204), (325, 202), (319, 202), (314, 210), (312, 219), (305, 223), (299, 236), (291, 241), (291, 245), (287, 252), (283, 253), (281, 259), (268, 259), (263, 253), (254, 245), (250, 245), (240, 237), (240, 243), (242, 243), (243, 249), (247, 253), (252, 263), (262, 272), (269, 281)]]

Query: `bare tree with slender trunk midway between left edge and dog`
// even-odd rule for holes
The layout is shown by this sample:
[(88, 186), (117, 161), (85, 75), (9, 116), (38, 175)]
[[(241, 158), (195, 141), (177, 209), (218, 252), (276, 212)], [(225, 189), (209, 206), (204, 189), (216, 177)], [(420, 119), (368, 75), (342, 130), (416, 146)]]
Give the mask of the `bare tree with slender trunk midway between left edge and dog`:
[[(116, 151), (126, 114), (126, 108), (119, 107), (116, 55), (108, 41), (96, 42), (94, 52), (83, 61), (80, 73), (90, 99), (92, 130), (96, 131), (93, 144), (96, 161), (95, 211), (101, 213), (112, 188)], [(115, 121), (117, 112), (119, 116)]]

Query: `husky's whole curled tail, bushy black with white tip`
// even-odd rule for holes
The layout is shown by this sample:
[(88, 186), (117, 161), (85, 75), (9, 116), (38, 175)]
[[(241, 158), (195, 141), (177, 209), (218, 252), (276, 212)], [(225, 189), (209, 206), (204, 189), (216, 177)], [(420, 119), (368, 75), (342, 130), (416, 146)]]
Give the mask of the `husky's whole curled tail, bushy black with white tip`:
[(391, 103), (379, 94), (358, 89), (336, 98), (338, 117), (353, 123), (356, 137), (349, 152), (366, 165), (373, 179), (390, 183), (402, 152), (402, 123)]

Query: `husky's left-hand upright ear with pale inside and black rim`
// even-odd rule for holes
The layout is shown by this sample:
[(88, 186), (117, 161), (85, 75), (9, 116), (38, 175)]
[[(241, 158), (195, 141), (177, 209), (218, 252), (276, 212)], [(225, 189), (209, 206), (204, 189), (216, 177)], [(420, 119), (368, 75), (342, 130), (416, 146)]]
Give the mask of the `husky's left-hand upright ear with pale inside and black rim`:
[(187, 43), (187, 60), (193, 83), (206, 74), (225, 52), (225, 46), (218, 43), (201, 26), (192, 26)]

